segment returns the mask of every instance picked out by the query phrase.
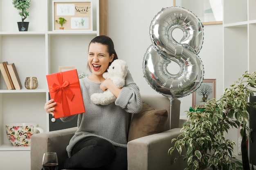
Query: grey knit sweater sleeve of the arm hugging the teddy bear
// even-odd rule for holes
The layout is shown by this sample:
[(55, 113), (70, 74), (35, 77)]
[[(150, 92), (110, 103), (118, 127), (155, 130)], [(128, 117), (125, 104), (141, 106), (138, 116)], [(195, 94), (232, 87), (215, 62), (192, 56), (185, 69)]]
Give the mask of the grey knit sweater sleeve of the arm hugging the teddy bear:
[(115, 104), (128, 113), (139, 113), (142, 109), (139, 87), (133, 81), (130, 71), (126, 75), (126, 85), (121, 89)]

